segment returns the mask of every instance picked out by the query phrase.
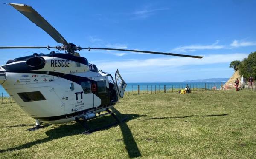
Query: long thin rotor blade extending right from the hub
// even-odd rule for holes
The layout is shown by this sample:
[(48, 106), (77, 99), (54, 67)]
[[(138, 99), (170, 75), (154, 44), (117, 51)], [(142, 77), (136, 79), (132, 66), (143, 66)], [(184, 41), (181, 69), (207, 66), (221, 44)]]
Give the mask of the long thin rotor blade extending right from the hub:
[(82, 48), (88, 50), (115, 50), (115, 51), (130, 51), (130, 52), (141, 52), (141, 53), (149, 53), (149, 54), (161, 54), (161, 55), (171, 55), (171, 56), (180, 56), (180, 57), (192, 57), (201, 59), (203, 56), (193, 56), (193, 55), (183, 55), (183, 54), (173, 54), (173, 53), (165, 53), (165, 52), (154, 52), (154, 51), (140, 51), (140, 50), (127, 50), (127, 49), (118, 49), (118, 48)]

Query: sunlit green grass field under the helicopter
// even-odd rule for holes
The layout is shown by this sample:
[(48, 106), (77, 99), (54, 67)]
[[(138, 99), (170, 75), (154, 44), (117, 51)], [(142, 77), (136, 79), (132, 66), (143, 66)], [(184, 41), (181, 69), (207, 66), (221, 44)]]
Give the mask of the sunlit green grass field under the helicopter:
[(0, 158), (256, 158), (255, 98), (247, 90), (129, 95), (115, 107), (127, 122), (90, 135), (76, 122), (26, 131), (34, 119), (3, 104)]

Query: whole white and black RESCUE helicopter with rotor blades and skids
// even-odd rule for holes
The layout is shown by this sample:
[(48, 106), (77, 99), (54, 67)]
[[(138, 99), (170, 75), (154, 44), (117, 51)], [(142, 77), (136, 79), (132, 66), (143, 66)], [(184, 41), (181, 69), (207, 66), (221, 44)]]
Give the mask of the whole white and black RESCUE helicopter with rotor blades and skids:
[[(123, 97), (126, 83), (116, 71), (115, 80), (96, 65), (88, 63), (80, 57), (80, 51), (116, 50), (132, 51), (150, 54), (163, 54), (180, 57), (202, 58), (201, 56), (172, 54), (153, 51), (139, 51), (116, 48), (82, 48), (68, 43), (61, 34), (53, 28), (37, 11), (26, 4), (9, 3), (29, 20), (42, 28), (56, 42), (63, 44), (56, 47), (41, 46), (8, 46), (0, 49), (15, 48), (55, 48), (65, 53), (50, 52), (8, 60), (0, 66), (0, 84), (29, 116), (35, 119), (35, 127), (29, 130), (43, 128), (44, 123), (60, 124), (70, 121), (81, 123), (86, 133), (91, 130), (83, 120), (89, 120), (111, 114), (117, 121), (115, 111), (110, 110)], [(105, 112), (100, 114), (101, 112)], [(111, 126), (111, 125), (107, 125)]]

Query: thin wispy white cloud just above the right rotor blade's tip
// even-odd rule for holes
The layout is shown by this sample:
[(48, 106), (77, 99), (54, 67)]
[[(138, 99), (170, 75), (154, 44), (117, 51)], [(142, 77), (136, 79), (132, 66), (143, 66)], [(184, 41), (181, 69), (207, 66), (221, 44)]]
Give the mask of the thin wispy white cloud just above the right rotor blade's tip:
[(196, 50), (217, 50), (226, 48), (224, 45), (217, 45), (219, 40), (211, 45), (188, 45), (188, 46), (180, 46), (171, 50), (171, 52), (189, 52)]

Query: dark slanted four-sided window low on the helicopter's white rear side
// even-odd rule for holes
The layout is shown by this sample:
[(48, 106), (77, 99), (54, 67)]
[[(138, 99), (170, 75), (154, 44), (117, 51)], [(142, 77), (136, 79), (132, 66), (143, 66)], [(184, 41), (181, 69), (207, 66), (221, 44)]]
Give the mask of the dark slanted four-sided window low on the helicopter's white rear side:
[(43, 94), (40, 91), (34, 92), (20, 92), (17, 93), (23, 102), (35, 102), (40, 100), (46, 100)]

